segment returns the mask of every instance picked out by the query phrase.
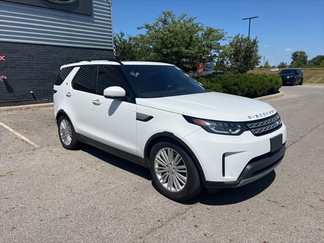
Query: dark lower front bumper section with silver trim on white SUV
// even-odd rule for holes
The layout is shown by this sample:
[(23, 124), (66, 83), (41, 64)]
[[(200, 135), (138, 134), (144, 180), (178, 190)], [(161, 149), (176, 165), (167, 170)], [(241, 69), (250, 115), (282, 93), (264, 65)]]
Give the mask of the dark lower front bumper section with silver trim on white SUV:
[(249, 184), (273, 171), (280, 164), (282, 158), (284, 158), (285, 152), (286, 146), (283, 145), (272, 153), (269, 152), (251, 159), (236, 181), (203, 181), (204, 186), (214, 189), (233, 188)]

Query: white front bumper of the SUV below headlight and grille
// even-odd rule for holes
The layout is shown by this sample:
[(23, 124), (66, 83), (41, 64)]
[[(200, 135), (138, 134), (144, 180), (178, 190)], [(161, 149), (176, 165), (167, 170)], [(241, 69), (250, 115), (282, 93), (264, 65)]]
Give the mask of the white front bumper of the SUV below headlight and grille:
[[(219, 187), (235, 187), (264, 176), (280, 163), (282, 156), (277, 157), (277, 151), (270, 153), (270, 139), (279, 134), (285, 144), (287, 132), (283, 123), (278, 130), (263, 136), (254, 136), (250, 131), (239, 136), (218, 135), (199, 129), (182, 140), (195, 154), (206, 187), (217, 184), (221, 185)], [(279, 150), (280, 154), (285, 154), (284, 146)], [(273, 164), (275, 161), (277, 163)]]

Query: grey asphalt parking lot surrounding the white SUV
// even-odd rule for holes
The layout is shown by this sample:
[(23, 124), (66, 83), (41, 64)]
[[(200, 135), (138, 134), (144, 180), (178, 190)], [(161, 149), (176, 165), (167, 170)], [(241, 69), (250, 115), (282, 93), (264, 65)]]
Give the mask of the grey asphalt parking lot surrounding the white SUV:
[[(0, 242), (323, 242), (324, 86), (266, 100), (288, 128), (282, 163), (249, 185), (185, 203), (145, 168), (63, 149), (53, 107), (1, 111)], [(32, 144), (33, 143), (33, 144)]]

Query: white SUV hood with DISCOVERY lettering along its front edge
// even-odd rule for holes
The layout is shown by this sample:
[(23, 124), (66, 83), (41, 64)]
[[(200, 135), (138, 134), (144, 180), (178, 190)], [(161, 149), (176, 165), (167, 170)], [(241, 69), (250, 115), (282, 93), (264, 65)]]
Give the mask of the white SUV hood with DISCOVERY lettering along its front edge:
[(161, 98), (136, 98), (136, 103), (182, 115), (224, 121), (256, 120), (271, 116), (276, 112), (265, 102), (216, 92)]

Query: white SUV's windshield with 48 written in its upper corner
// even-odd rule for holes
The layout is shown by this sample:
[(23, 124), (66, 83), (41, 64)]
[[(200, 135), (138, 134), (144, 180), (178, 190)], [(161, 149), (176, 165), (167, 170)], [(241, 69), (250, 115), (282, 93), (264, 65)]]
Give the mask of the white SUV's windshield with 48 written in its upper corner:
[(176, 66), (120, 65), (140, 98), (157, 98), (207, 92), (192, 77)]

